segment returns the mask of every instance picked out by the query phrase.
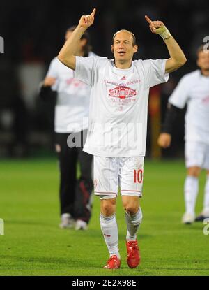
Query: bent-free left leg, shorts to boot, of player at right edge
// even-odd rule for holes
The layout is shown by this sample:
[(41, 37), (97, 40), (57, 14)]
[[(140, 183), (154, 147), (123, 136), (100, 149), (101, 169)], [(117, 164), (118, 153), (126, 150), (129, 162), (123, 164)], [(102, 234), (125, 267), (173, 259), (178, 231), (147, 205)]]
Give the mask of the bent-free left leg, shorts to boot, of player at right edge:
[(184, 185), (185, 213), (182, 222), (183, 224), (192, 224), (195, 219), (196, 197), (199, 191), (199, 174), (203, 164), (201, 144), (185, 142), (185, 164), (187, 176)]

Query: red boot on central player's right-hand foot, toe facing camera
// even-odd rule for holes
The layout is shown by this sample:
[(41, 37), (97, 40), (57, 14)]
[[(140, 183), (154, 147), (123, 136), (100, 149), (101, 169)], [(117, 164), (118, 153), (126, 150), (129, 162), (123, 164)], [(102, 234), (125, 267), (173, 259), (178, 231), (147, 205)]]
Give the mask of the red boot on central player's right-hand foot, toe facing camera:
[(127, 265), (130, 268), (136, 268), (140, 263), (139, 247), (137, 240), (126, 242), (127, 248)]

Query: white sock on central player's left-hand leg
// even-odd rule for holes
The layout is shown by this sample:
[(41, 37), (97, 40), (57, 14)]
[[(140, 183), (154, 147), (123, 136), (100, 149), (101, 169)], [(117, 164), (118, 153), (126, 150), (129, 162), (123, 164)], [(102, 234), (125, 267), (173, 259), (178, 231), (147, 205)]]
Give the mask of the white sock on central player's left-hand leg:
[(116, 222), (116, 215), (111, 217), (104, 217), (100, 214), (100, 226), (104, 235), (104, 241), (109, 251), (109, 256), (116, 255), (120, 258), (118, 249), (118, 226)]

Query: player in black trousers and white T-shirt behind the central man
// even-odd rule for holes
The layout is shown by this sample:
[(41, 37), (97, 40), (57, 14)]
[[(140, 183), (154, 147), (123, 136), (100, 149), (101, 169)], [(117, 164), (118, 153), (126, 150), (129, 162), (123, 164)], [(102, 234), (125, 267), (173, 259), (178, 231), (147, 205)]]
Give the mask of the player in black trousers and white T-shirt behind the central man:
[[(75, 27), (70, 27), (65, 40), (72, 36)], [(89, 35), (86, 31), (76, 45), (76, 55), (88, 57), (90, 51)], [(40, 96), (50, 97), (50, 92), (58, 92), (55, 106), (56, 152), (59, 157), (62, 229), (87, 229), (91, 217), (91, 177), (92, 155), (82, 151), (82, 147), (69, 147), (70, 134), (82, 141), (88, 128), (90, 86), (75, 80), (73, 71), (61, 64), (55, 57), (42, 84)], [(52, 96), (52, 94), (51, 94)], [(81, 144), (82, 145), (82, 144)], [(77, 162), (80, 164), (81, 176), (77, 180)]]

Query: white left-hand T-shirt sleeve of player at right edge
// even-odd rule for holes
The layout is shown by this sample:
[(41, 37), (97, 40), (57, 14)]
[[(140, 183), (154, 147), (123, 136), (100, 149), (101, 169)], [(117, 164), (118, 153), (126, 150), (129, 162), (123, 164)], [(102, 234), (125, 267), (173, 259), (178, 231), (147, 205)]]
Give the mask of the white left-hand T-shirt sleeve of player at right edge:
[(174, 89), (173, 93), (169, 97), (169, 103), (171, 105), (176, 106), (177, 108), (184, 108), (187, 100), (189, 99), (189, 87), (187, 83), (187, 77), (184, 76), (181, 78), (180, 82), (176, 89)]

